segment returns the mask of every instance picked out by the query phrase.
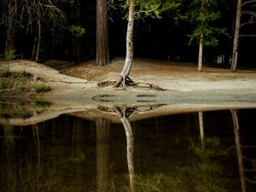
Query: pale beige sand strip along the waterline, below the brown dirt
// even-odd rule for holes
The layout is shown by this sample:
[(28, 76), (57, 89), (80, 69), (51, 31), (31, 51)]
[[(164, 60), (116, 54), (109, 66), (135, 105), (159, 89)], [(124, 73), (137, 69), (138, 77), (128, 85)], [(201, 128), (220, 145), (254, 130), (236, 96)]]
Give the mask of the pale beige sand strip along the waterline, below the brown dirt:
[(153, 83), (160, 83), (165, 90), (147, 88), (121, 90), (111, 87), (98, 88), (96, 82), (69, 77), (51, 67), (32, 61), (12, 61), (9, 69), (11, 73), (32, 73), (35, 81), (49, 84), (52, 90), (43, 96), (49, 102), (56, 100), (64, 103), (65, 101), (114, 102), (116, 104), (157, 102), (181, 105), (198, 103), (256, 108), (256, 73), (250, 79), (236, 78), (219, 81), (203, 78), (183, 79), (183, 76), (171, 80), (159, 77)]

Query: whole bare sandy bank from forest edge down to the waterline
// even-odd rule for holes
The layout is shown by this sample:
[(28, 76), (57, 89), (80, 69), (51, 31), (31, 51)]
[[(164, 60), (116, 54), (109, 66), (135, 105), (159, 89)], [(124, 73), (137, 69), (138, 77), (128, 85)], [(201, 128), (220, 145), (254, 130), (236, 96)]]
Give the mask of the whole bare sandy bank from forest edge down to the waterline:
[(256, 71), (204, 67), (197, 72), (193, 63), (150, 61), (136, 59), (131, 69), (131, 78), (136, 82), (148, 82), (165, 89), (99, 88), (97, 83), (118, 78), (124, 59), (117, 58), (104, 67), (96, 67), (87, 61), (55, 70), (32, 61), (14, 61), (12, 72), (32, 73), (53, 90), (44, 98), (53, 100), (93, 99), (114, 102), (256, 102)]

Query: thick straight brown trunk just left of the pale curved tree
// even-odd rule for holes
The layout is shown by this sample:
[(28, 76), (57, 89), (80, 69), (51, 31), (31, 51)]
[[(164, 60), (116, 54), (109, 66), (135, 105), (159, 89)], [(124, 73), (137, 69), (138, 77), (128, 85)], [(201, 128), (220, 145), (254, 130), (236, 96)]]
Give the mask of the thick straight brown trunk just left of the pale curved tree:
[(109, 62), (107, 1), (96, 0), (96, 66)]

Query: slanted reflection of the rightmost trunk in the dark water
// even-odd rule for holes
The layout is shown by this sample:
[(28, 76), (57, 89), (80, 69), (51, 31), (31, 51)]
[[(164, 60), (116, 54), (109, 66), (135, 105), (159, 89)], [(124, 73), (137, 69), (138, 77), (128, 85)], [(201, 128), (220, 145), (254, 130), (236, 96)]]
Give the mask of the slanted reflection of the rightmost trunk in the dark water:
[(239, 175), (240, 175), (240, 182), (241, 182), (241, 191), (246, 192), (246, 178), (244, 175), (244, 166), (242, 161), (242, 152), (241, 152), (241, 142), (239, 137), (239, 122), (238, 122), (238, 115), (236, 110), (231, 110), (233, 125), (234, 125), (234, 133), (235, 133), (235, 140), (236, 140), (236, 155), (238, 160), (239, 166)]

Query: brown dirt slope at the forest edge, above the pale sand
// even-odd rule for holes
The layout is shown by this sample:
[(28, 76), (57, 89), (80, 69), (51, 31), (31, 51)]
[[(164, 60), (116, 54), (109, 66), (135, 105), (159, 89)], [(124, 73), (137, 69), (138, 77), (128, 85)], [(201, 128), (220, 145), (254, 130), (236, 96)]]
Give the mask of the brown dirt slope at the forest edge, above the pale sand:
[[(124, 66), (124, 62), (124, 58), (115, 58), (112, 63), (107, 66), (96, 67), (95, 61), (91, 60), (63, 68), (60, 71), (61, 73), (72, 77), (101, 82), (116, 79)], [(135, 59), (131, 68), (131, 77), (134, 77), (134, 79), (145, 81), (150, 79), (154, 82), (157, 82), (157, 79), (162, 81), (165, 79), (193, 79), (196, 77), (218, 81), (250, 78), (252, 75), (255, 76), (256, 71), (238, 70), (238, 73), (230, 73), (229, 69), (218, 67), (204, 67), (203, 72), (198, 73), (195, 63), (155, 61), (147, 59)]]

